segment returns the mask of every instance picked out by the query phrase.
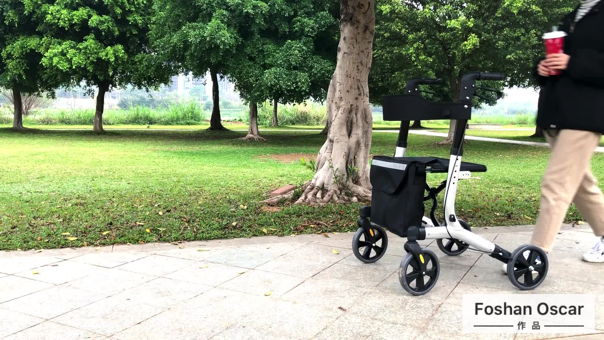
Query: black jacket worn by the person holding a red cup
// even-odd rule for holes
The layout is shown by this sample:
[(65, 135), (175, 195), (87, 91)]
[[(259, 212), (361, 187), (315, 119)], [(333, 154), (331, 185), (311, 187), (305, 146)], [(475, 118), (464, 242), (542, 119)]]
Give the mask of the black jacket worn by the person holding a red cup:
[(560, 26), (568, 34), (567, 70), (542, 77), (535, 66), (534, 76), (541, 85), (537, 126), (604, 134), (604, 0), (577, 23), (575, 15), (576, 10)]

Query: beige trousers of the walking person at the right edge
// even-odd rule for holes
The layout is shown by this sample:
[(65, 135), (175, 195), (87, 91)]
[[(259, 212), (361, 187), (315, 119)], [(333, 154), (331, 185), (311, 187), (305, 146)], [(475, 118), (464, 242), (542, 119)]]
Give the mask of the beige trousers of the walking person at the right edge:
[(545, 131), (550, 162), (541, 179), (541, 211), (531, 243), (550, 252), (571, 203), (594, 230), (604, 236), (604, 196), (590, 162), (600, 134), (577, 130)]

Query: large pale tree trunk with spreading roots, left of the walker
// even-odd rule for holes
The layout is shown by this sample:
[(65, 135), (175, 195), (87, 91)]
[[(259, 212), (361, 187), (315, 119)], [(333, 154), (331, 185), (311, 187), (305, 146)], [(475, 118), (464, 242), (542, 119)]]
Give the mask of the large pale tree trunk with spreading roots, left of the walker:
[[(368, 76), (373, 54), (374, 2), (340, 0), (338, 62), (327, 92), (329, 134), (316, 159), (316, 174), (302, 186), (298, 204), (370, 201), (369, 150), (373, 116)], [(275, 197), (278, 203), (294, 194)]]

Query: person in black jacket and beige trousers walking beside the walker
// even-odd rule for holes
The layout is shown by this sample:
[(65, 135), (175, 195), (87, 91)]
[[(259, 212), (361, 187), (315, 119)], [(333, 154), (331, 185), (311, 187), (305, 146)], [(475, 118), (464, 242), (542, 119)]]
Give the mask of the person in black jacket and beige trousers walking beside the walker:
[(560, 27), (567, 33), (564, 53), (548, 54), (535, 67), (541, 85), (537, 125), (551, 158), (531, 243), (550, 252), (574, 203), (600, 237), (583, 261), (604, 263), (604, 196), (590, 170), (604, 134), (604, 0), (581, 0)]

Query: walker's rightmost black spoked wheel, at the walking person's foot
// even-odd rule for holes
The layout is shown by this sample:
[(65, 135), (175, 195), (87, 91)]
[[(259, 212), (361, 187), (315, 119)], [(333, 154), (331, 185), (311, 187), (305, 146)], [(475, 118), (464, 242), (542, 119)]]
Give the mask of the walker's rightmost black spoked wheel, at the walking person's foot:
[(547, 254), (543, 249), (525, 244), (512, 253), (512, 258), (507, 263), (507, 278), (518, 289), (535, 289), (545, 280), (549, 267)]

